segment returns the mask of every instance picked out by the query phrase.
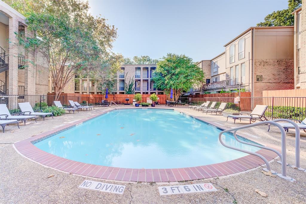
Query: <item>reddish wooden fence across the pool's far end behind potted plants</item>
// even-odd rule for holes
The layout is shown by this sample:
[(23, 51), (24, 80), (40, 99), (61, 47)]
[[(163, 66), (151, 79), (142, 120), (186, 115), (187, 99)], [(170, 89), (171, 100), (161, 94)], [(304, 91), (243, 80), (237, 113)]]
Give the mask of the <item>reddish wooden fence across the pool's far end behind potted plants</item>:
[[(54, 93), (49, 93), (47, 95), (48, 97), (48, 105), (49, 103), (52, 103), (54, 101), (55, 95)], [(150, 97), (150, 94), (142, 94), (142, 101), (141, 102), (147, 102), (147, 98)], [(159, 104), (165, 104), (166, 101), (166, 95), (159, 94), (157, 95)], [(129, 101), (126, 101), (125, 99), (129, 99)], [(69, 105), (68, 100), (74, 100), (79, 103), (85, 101), (91, 104), (98, 103), (98, 101), (107, 100), (107, 101), (114, 101), (117, 104), (122, 103), (132, 103), (134, 99), (134, 94), (108, 94), (108, 98), (105, 98), (105, 95), (101, 94), (69, 94), (69, 93), (63, 93), (59, 96), (58, 100), (61, 101), (61, 103), (64, 105)]]

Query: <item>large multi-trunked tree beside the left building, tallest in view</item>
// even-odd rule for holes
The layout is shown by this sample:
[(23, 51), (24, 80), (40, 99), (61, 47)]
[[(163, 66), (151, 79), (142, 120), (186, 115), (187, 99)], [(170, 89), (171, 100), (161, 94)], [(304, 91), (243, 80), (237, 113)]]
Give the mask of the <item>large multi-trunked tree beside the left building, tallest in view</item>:
[(75, 74), (88, 74), (88, 70), (97, 73), (106, 67), (105, 64), (113, 69), (105, 72), (106, 76), (117, 72), (121, 63), (111, 61), (117, 57), (109, 51), (117, 37), (117, 29), (101, 17), (93, 17), (88, 12), (87, 1), (49, 0), (44, 1), (44, 6), (34, 5), (33, 11), (27, 8), (26, 20), (28, 30), (35, 36), (23, 39), (20, 34), (16, 35), (27, 51), (38, 50), (47, 60), (56, 96)]

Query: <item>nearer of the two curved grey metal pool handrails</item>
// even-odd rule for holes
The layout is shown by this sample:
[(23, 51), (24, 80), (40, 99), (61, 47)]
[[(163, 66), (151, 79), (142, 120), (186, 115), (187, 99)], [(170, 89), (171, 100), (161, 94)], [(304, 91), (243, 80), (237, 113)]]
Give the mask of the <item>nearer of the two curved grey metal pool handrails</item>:
[[(259, 125), (263, 125), (263, 124), (273, 124), (273, 125), (277, 126), (280, 129), (281, 135), (282, 135), (282, 155), (281, 155), (282, 156), (282, 158), (281, 158), (281, 160), (282, 160), (282, 173), (281, 174), (278, 173), (277, 175), (279, 177), (283, 178), (283, 179), (292, 180), (291, 177), (286, 175), (286, 172), (287, 172), (286, 171), (286, 132), (285, 132), (284, 128), (282, 128), (282, 126), (280, 124), (278, 124), (276, 122), (273, 122), (273, 121), (261, 121), (261, 122), (258, 122), (258, 123), (248, 124), (248, 125), (244, 125), (244, 126), (237, 127), (237, 128), (231, 128), (231, 129), (228, 129), (228, 130), (223, 130), (223, 131), (221, 131), (219, 133), (219, 141), (220, 141), (220, 143), (224, 147), (227, 147), (227, 148), (230, 148), (230, 149), (233, 149), (233, 150), (237, 150), (237, 151), (241, 151), (241, 152), (244, 152), (244, 153), (247, 153), (247, 154), (252, 154), (252, 155), (255, 155), (255, 156), (261, 158), (266, 163), (267, 170), (271, 171), (269, 162), (262, 155), (260, 155), (258, 153), (255, 153), (255, 152), (251, 152), (251, 151), (247, 151), (247, 150), (242, 150), (242, 149), (239, 149), (239, 148), (236, 148), (236, 147), (231, 147), (229, 145), (226, 145), (225, 143), (223, 143), (222, 138), (221, 138), (223, 133), (237, 131), (237, 130), (241, 130), (241, 129), (245, 129), (245, 128), (251, 128), (251, 127), (255, 127), (255, 126), (259, 126)], [(250, 145), (250, 143), (247, 144), (247, 145)], [(266, 169), (263, 169), (263, 170), (266, 170)]]

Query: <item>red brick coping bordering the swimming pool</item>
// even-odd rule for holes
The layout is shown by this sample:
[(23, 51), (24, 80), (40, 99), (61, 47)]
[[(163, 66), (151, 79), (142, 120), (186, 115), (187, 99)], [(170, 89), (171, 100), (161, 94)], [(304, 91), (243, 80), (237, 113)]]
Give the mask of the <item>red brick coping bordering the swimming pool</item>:
[[(78, 161), (73, 161), (73, 160), (69, 160), (66, 158), (58, 157), (54, 154), (50, 154), (43, 150), (40, 150), (39, 148), (33, 145), (33, 143), (46, 139), (56, 133), (73, 128), (78, 124), (81, 124), (85, 121), (99, 117), (103, 114), (109, 113), (110, 111), (95, 115), (93, 117), (88, 117), (80, 121), (76, 121), (72, 124), (67, 124), (62, 127), (55, 128), (53, 130), (32, 136), (30, 138), (14, 143), (14, 146), (19, 153), (21, 153), (25, 157), (33, 161), (36, 161), (42, 165), (46, 165), (54, 169), (58, 169), (61, 171), (78, 174), (82, 176), (90, 176), (90, 177), (95, 177), (95, 178), (108, 179), (108, 180), (119, 180), (119, 181), (168, 182), (168, 181), (199, 180), (199, 179), (207, 179), (207, 178), (213, 178), (213, 177), (218, 177), (218, 176), (225, 176), (225, 175), (230, 175), (234, 173), (244, 172), (246, 170), (253, 169), (253, 168), (256, 168), (264, 164), (264, 161), (262, 159), (260, 159), (257, 156), (249, 154), (247, 156), (244, 156), (238, 159), (234, 159), (231, 161), (225, 161), (225, 162), (211, 164), (211, 165), (187, 167), (187, 168), (174, 168), (174, 169), (117, 168), (117, 167), (88, 164), (88, 163), (83, 163), (83, 162), (78, 162)], [(196, 119), (201, 120), (199, 118), (196, 118)], [(201, 120), (201, 121), (208, 123), (205, 120)], [(214, 125), (214, 126), (217, 126), (217, 125)], [(220, 129), (226, 129), (226, 128), (222, 127)], [(249, 139), (247, 136), (244, 136), (244, 137)], [(254, 141), (253, 139), (250, 139), (250, 140)], [(268, 145), (266, 144), (266, 146)], [(265, 149), (258, 150), (256, 151), (256, 153), (261, 154), (268, 161), (271, 161), (273, 158), (278, 156), (276, 153), (270, 150), (265, 150)]]

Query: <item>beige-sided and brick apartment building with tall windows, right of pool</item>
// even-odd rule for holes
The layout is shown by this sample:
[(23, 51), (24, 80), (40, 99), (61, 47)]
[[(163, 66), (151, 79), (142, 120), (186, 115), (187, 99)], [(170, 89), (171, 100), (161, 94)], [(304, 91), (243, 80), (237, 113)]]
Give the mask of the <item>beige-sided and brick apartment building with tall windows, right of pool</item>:
[[(294, 27), (251, 27), (226, 43), (225, 53), (206, 61), (211, 69), (206, 91), (244, 88), (253, 97), (262, 91), (294, 88)], [(206, 79), (209, 82), (209, 79)]]

